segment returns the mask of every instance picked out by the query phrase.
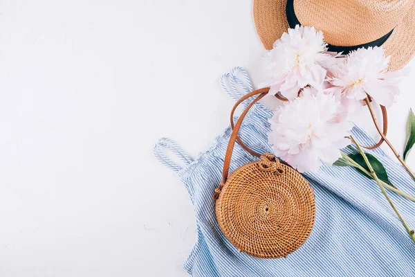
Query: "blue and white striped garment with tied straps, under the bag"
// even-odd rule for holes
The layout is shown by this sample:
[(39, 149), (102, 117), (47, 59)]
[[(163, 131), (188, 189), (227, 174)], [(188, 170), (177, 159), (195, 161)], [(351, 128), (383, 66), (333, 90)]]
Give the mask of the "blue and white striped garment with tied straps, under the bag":
[[(237, 78), (234, 78), (233, 73), (225, 78), (239, 84), (235, 82)], [(244, 87), (243, 84), (239, 86)], [(270, 132), (268, 118), (271, 116), (269, 109), (257, 104), (246, 116), (239, 132), (242, 140), (257, 152), (271, 152), (267, 143), (267, 133)], [(230, 133), (228, 127), (216, 137), (210, 149), (199, 154), (194, 161), (185, 156), (185, 168), (172, 168), (185, 184), (196, 215), (198, 239), (184, 266), (189, 274), (261, 277), (415, 276), (414, 242), (409, 239), (377, 184), (353, 168), (323, 166), (317, 173), (304, 174), (315, 192), (315, 226), (306, 243), (288, 258), (268, 260), (239, 253), (221, 232), (212, 199), (214, 188), (221, 181)], [(374, 143), (358, 127), (353, 129), (353, 134), (364, 145)], [(160, 157), (160, 151), (168, 141), (161, 139), (155, 148), (156, 157), (164, 162), (166, 157)], [(182, 151), (177, 145), (174, 145), (174, 149), (176, 154)], [(393, 184), (415, 195), (414, 181), (402, 166), (391, 161), (380, 149), (369, 152), (382, 161)], [(236, 145), (231, 170), (255, 160), (255, 157)], [(414, 228), (414, 202), (392, 192), (389, 195), (409, 226)]]

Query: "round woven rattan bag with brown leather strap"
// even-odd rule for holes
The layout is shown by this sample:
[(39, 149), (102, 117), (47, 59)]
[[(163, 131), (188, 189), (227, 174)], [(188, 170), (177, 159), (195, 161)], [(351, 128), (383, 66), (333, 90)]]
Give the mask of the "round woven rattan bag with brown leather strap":
[[(216, 218), (225, 236), (239, 251), (258, 258), (282, 258), (306, 242), (315, 220), (313, 189), (297, 170), (280, 162), (273, 154), (258, 154), (243, 144), (238, 131), (248, 109), (264, 97), (259, 94), (241, 114), (234, 126), (223, 164), (223, 181), (216, 188)], [(233, 127), (233, 123), (232, 123)], [(251, 154), (261, 157), (237, 168), (228, 177), (235, 141)]]

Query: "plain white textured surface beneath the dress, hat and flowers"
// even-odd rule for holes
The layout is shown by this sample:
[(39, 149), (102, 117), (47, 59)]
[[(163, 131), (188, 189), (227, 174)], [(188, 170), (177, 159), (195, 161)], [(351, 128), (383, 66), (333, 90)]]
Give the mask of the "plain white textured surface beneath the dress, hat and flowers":
[[(187, 276), (192, 206), (151, 150), (160, 136), (206, 150), (232, 107), (219, 76), (239, 65), (260, 80), (251, 9), (0, 0), (1, 277)], [(414, 78), (389, 110), (400, 151)]]

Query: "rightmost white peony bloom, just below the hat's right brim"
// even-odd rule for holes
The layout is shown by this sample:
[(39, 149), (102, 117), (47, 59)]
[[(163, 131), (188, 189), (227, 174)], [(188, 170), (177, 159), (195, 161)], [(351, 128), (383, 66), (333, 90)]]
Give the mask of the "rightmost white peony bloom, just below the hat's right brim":
[(398, 79), (406, 70), (387, 72), (390, 57), (379, 47), (359, 48), (331, 70), (331, 91), (341, 93), (346, 107), (361, 105), (367, 94), (378, 104), (390, 107), (399, 93)]

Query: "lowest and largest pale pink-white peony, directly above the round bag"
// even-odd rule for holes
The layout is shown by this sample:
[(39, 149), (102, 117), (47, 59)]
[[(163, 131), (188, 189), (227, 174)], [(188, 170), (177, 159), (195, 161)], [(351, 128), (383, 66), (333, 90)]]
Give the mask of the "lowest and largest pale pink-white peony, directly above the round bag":
[(344, 121), (344, 112), (335, 96), (306, 87), (275, 111), (268, 141), (275, 155), (299, 172), (317, 171), (322, 163), (337, 161), (350, 143), (345, 137), (352, 125)]

